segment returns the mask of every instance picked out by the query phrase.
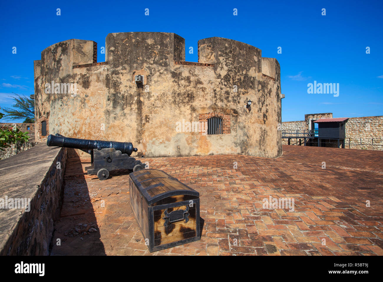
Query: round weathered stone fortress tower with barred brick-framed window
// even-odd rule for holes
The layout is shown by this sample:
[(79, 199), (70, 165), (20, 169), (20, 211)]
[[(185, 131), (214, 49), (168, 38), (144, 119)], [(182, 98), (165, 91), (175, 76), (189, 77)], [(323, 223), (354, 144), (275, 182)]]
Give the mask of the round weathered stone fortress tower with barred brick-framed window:
[(97, 43), (66, 40), (34, 61), (34, 86), (38, 141), (132, 142), (138, 157), (282, 154), (280, 66), (246, 43), (199, 40), (194, 63), (174, 33), (110, 33), (97, 62)]

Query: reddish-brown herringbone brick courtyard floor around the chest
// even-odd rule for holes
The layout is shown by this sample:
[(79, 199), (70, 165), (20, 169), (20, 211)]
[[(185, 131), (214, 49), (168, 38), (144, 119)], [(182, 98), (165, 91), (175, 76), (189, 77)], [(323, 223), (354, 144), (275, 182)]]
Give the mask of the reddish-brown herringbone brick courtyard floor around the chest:
[[(383, 255), (381, 151), (283, 145), (277, 159), (141, 161), (200, 192), (201, 240), (150, 253), (129, 205), (127, 171), (100, 181), (85, 174), (90, 158), (69, 158), (52, 255)], [(294, 211), (263, 208), (269, 196), (294, 198)]]

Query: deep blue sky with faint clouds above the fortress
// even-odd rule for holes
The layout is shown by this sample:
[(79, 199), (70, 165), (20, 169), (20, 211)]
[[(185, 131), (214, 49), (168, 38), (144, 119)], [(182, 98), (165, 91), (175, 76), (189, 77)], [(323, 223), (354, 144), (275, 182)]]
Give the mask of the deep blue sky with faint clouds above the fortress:
[[(285, 94), (282, 121), (322, 112), (383, 115), (382, 12), (383, 1), (2, 1), (0, 107), (12, 104), (12, 92), (34, 93), (33, 60), (54, 43), (96, 41), (101, 62), (108, 33), (160, 31), (185, 38), (187, 61), (198, 61), (197, 41), (213, 36), (248, 43), (262, 49), (262, 56), (277, 58)], [(277, 54), (279, 46), (282, 54)], [(339, 96), (308, 94), (307, 84), (314, 81), (339, 83)]]

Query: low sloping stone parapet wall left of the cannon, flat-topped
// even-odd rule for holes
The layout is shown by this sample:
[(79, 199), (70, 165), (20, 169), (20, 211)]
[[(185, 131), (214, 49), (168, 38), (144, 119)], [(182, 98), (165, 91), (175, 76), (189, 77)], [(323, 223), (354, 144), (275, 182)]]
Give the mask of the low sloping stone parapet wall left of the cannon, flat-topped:
[(46, 144), (0, 161), (0, 198), (31, 199), (30, 211), (0, 209), (1, 256), (49, 254), (53, 220), (62, 202), (66, 161), (66, 148)]

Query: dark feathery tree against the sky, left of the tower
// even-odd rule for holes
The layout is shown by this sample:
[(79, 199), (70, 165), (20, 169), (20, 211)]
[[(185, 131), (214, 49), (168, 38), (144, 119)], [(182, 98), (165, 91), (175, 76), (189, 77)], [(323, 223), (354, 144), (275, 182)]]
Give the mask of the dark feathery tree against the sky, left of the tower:
[(7, 118), (10, 120), (15, 119), (24, 119), (23, 123), (33, 123), (34, 122), (34, 100), (30, 99), (24, 95), (19, 95), (14, 92), (13, 94), (16, 97), (12, 97), (15, 101), (15, 104), (12, 105), (13, 108), (4, 108), (4, 112), (7, 114)]

